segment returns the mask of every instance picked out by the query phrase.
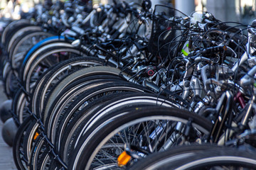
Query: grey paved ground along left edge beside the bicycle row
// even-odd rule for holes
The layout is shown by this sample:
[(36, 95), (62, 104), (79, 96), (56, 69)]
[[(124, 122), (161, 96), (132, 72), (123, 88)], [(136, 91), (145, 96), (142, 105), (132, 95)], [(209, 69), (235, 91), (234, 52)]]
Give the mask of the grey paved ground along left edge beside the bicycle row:
[[(6, 96), (4, 96), (3, 85), (0, 81), (0, 104), (4, 101), (6, 101)], [(0, 170), (14, 170), (16, 166), (14, 164), (12, 148), (4, 142), (1, 135), (2, 128), (3, 123), (0, 120)]]

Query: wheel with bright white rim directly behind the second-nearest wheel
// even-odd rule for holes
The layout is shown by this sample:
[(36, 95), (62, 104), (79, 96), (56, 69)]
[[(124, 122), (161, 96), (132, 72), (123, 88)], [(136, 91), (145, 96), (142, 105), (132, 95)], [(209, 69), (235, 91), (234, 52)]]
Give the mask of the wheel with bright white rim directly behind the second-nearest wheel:
[[(57, 128), (58, 133), (55, 134), (55, 147), (58, 148), (64, 162), (69, 159), (69, 153), (75, 149), (77, 141), (80, 140), (87, 127), (92, 126), (100, 117), (135, 106), (176, 106), (175, 103), (155, 94), (130, 91), (122, 93), (122, 96), (111, 98), (113, 95), (108, 95), (110, 98), (104, 96), (88, 103), (81, 111), (74, 111), (74, 106), (70, 106), (67, 110), (68, 114), (60, 119), (62, 123)], [(80, 107), (80, 105), (75, 107)]]

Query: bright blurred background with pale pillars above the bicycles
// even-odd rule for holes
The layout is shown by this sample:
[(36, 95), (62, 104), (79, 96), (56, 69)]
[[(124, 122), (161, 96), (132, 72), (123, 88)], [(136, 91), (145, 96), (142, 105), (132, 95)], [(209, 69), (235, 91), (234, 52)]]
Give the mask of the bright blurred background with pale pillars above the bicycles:
[[(38, 3), (49, 0), (0, 0), (0, 17), (19, 19), (21, 12), (28, 12)], [(52, 0), (53, 3), (56, 0)], [(62, 0), (65, 1), (65, 0)], [(112, 4), (112, 0), (83, 0), (88, 4)], [(117, 0), (119, 1), (119, 0)], [(141, 2), (142, 0), (129, 0)], [(129, 2), (127, 1), (127, 2)], [(256, 0), (151, 0), (154, 4), (174, 6), (189, 15), (192, 11), (208, 11), (220, 21), (249, 24), (256, 16)]]

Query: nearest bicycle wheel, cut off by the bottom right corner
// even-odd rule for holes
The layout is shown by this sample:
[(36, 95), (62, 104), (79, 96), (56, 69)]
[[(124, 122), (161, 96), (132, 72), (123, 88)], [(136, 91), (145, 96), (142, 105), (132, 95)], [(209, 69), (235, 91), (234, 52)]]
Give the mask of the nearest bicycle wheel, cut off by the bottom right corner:
[(143, 169), (255, 169), (256, 157), (252, 151), (214, 147), (200, 152), (188, 152), (161, 159)]

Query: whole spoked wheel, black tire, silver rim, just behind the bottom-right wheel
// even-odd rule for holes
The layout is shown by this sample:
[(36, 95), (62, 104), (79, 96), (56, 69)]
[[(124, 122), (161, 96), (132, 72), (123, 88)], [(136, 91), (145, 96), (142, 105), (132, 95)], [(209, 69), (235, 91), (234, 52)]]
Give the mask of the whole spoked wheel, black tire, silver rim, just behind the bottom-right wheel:
[(68, 167), (117, 169), (117, 157), (124, 151), (124, 145), (159, 152), (173, 145), (196, 142), (208, 135), (210, 128), (205, 118), (177, 108), (127, 108), (106, 115), (87, 128), (72, 153), (73, 158), (68, 160)]

